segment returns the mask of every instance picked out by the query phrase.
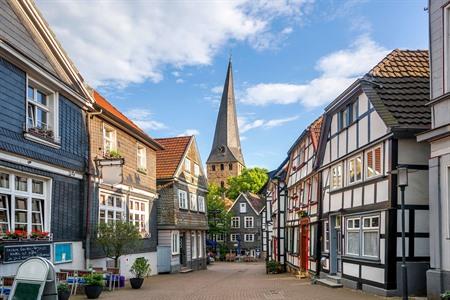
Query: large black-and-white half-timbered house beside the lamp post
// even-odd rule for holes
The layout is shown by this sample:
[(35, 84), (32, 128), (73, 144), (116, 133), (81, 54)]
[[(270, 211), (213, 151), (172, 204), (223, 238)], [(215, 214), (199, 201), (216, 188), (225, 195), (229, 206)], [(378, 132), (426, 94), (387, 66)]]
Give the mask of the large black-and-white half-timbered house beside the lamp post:
[[(428, 157), (415, 135), (430, 126), (428, 52), (394, 50), (326, 107), (322, 275), (381, 295), (401, 292), (400, 189), (409, 168), (406, 259), (411, 294), (429, 265)], [(326, 277), (326, 276), (325, 276)]]

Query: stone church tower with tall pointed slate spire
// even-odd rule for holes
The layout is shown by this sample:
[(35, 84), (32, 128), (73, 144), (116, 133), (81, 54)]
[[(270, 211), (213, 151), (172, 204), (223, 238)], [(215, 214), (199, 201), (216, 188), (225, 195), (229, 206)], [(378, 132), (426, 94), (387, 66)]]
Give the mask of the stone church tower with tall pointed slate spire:
[(206, 167), (209, 183), (221, 187), (227, 187), (227, 178), (238, 176), (245, 167), (236, 116), (231, 59), (228, 63), (214, 141)]

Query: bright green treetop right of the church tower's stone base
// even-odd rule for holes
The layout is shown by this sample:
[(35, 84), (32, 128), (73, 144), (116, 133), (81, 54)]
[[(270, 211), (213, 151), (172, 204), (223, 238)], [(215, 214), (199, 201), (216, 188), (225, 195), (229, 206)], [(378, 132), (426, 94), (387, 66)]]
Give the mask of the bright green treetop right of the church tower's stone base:
[(240, 193), (257, 193), (267, 182), (267, 170), (263, 168), (244, 169), (241, 175), (228, 178), (227, 197), (236, 199)]

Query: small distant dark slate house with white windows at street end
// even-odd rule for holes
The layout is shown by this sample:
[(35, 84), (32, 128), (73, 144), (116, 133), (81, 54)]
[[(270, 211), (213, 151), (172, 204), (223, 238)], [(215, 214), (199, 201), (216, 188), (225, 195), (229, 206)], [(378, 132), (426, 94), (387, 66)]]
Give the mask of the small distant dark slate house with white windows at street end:
[(252, 193), (241, 193), (228, 209), (231, 213), (227, 246), (238, 255), (259, 258), (262, 251), (263, 199)]

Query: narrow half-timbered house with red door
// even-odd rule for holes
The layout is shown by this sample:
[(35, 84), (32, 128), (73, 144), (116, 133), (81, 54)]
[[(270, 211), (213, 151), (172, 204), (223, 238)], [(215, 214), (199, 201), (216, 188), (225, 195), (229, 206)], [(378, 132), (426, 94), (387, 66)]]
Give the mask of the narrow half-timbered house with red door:
[(318, 273), (320, 174), (316, 172), (322, 117), (314, 121), (288, 152), (286, 267), (305, 276)]

